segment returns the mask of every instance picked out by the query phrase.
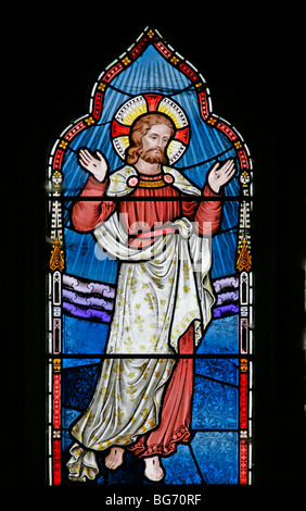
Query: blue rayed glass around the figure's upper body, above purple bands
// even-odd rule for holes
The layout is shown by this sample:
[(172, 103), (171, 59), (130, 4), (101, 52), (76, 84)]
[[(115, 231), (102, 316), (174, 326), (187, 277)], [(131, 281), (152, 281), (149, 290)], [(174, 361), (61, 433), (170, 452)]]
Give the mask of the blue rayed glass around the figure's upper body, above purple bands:
[[(191, 128), (190, 144), (175, 166), (202, 188), (207, 171), (214, 162), (233, 158), (238, 172), (235, 177), (225, 187), (225, 196), (238, 196), (240, 192), (238, 179), (240, 169), (235, 150), (230, 140), (202, 120), (197, 108), (196, 92), (191, 80), (165, 61), (152, 46), (113, 79), (112, 87), (106, 88), (102, 116), (98, 124), (82, 130), (72, 140), (63, 162), (64, 195), (76, 196), (88, 178), (87, 172), (79, 166), (75, 152), (81, 147), (88, 147), (92, 151), (99, 149), (103, 152), (110, 163), (111, 172), (123, 166), (124, 162), (112, 145), (111, 122), (126, 100), (144, 92), (162, 92), (173, 97), (188, 115)], [(112, 278), (115, 282), (116, 263), (105, 259), (101, 264), (94, 254), (92, 235), (73, 230), (71, 205), (72, 203), (68, 201), (64, 203), (65, 245), (68, 251), (66, 257), (67, 273), (101, 281)], [(238, 214), (239, 201), (225, 204), (220, 234), (213, 239), (212, 276), (214, 278), (234, 273)], [(232, 230), (228, 230), (229, 228)], [(227, 232), (222, 234), (222, 230)], [(76, 258), (77, 254), (80, 254), (81, 258)], [(226, 254), (231, 254), (231, 257), (225, 257)]]

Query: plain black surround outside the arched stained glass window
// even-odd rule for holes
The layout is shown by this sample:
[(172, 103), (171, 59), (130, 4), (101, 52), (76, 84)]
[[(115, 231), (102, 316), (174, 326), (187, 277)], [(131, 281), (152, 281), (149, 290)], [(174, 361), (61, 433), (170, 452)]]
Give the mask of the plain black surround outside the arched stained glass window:
[(305, 450), (302, 7), (301, 12), (289, 14), (279, 9), (267, 13), (264, 7), (247, 4), (216, 5), (213, 12), (205, 4), (201, 9), (154, 4), (148, 7), (148, 15), (142, 8), (133, 4), (105, 10), (103, 4), (87, 2), (64, 14), (63, 7), (47, 4), (41, 11), (24, 8), (17, 25), (15, 13), (8, 18), (11, 30), (2, 45), (2, 64), (9, 64), (2, 76), (8, 88), (2, 110), (2, 172), (8, 186), (2, 188), (2, 197), (4, 203), (8, 195), (5, 204), (10, 208), (5, 205), (3, 211), (8, 227), (2, 238), (2, 272), (4, 298), (10, 298), (5, 299), (9, 307), (3, 307), (2, 332), (7, 332), (5, 367), (11, 377), (3, 383), (2, 438), (9, 454), (4, 468), (2, 460), (1, 483), (7, 489), (46, 488), (48, 157), (61, 132), (87, 114), (99, 74), (150, 25), (203, 74), (214, 113), (242, 134), (254, 160), (256, 399), (252, 491), (277, 490), (279, 496), (284, 489), (295, 491), (303, 487)]

